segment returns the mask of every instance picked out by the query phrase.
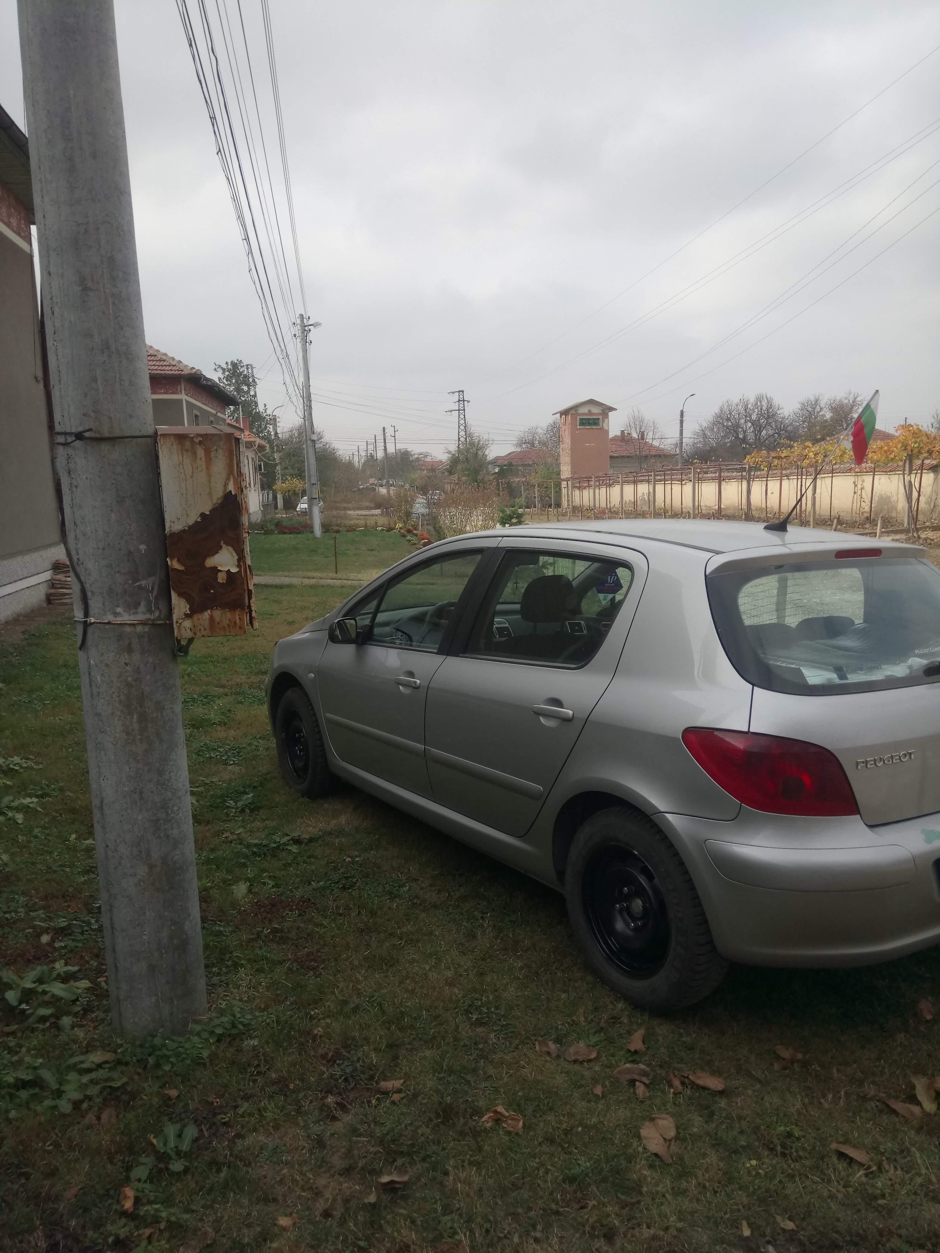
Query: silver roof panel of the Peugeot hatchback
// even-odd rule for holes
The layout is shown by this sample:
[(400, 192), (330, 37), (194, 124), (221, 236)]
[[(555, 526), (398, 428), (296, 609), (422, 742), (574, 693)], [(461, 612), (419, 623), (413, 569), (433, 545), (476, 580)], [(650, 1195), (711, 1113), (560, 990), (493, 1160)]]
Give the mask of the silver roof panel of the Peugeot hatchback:
[[(478, 533), (479, 535), (480, 533)], [(699, 520), (687, 517), (635, 517), (635, 519), (594, 519), (578, 523), (528, 523), (523, 526), (500, 528), (485, 531), (486, 535), (530, 535), (533, 539), (577, 539), (594, 535), (607, 543), (652, 540), (662, 544), (677, 544), (682, 548), (707, 553), (709, 556), (726, 553), (755, 551), (763, 549), (776, 553), (800, 553), (815, 548), (871, 548), (869, 535), (854, 535), (845, 531), (828, 531), (810, 526), (790, 526), (786, 531), (767, 531), (763, 523), (733, 523), (727, 520)], [(461, 536), (470, 539), (470, 536)], [(907, 544), (896, 544), (879, 539), (880, 549), (896, 549), (897, 555), (910, 553)]]

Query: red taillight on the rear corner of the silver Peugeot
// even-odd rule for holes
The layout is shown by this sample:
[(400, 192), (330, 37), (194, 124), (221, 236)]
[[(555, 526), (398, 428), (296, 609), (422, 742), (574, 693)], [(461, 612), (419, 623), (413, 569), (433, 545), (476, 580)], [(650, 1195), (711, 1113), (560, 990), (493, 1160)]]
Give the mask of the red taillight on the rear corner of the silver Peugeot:
[(751, 809), (818, 818), (859, 812), (841, 762), (820, 744), (711, 727), (688, 727), (682, 743), (706, 774)]

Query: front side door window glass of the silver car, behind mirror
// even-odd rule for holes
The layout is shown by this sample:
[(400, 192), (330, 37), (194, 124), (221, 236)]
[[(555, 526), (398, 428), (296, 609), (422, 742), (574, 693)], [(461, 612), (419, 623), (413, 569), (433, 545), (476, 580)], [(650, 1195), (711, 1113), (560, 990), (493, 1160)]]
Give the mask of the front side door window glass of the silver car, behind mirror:
[(436, 653), (480, 556), (455, 553), (390, 583), (366, 643)]

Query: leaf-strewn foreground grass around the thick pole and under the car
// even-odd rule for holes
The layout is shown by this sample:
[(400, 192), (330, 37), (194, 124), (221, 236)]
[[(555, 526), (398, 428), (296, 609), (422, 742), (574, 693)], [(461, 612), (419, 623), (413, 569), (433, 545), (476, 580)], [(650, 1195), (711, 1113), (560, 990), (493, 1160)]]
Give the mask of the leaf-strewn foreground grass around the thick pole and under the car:
[[(212, 1014), (182, 1041), (109, 1032), (74, 632), (0, 645), (0, 965), (89, 985), (33, 1024), (0, 1001), (0, 1248), (940, 1249), (940, 1115), (880, 1099), (940, 1073), (917, 1011), (937, 952), (737, 969), (694, 1010), (632, 1009), (580, 965), (560, 896), (353, 791), (281, 786), (268, 652), (340, 595), (259, 588), (257, 634), (180, 663)], [(778, 1045), (802, 1060), (775, 1069)], [(614, 1078), (628, 1061), (647, 1099)], [(689, 1070), (724, 1091), (673, 1093)], [(481, 1124), (496, 1105), (521, 1133)], [(654, 1114), (672, 1164), (640, 1141)]]

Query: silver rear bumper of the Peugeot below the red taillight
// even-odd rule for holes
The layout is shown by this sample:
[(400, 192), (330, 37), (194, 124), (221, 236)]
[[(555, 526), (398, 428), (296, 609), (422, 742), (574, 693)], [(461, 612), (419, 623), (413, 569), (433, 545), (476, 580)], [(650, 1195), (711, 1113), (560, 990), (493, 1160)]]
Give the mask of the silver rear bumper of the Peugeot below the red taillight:
[(861, 966), (940, 944), (940, 814), (877, 828), (753, 811), (657, 821), (732, 961)]

